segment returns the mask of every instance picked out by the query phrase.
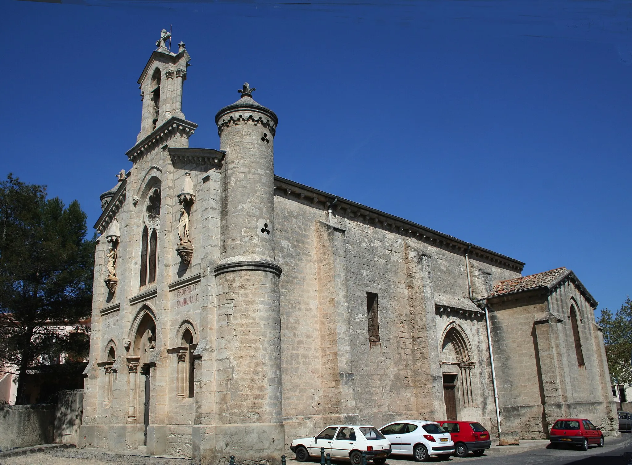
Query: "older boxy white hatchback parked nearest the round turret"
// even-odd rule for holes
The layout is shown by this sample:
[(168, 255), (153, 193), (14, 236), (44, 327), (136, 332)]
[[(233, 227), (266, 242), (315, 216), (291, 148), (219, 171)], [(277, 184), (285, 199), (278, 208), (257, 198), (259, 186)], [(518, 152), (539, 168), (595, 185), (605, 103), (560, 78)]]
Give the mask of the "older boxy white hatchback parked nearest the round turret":
[(320, 457), (321, 447), (332, 459), (349, 459), (353, 465), (362, 464), (362, 452), (366, 452), (367, 461), (372, 460), (375, 465), (384, 464), (391, 454), (391, 443), (371, 425), (327, 426), (315, 437), (295, 439), (289, 446), (300, 462)]

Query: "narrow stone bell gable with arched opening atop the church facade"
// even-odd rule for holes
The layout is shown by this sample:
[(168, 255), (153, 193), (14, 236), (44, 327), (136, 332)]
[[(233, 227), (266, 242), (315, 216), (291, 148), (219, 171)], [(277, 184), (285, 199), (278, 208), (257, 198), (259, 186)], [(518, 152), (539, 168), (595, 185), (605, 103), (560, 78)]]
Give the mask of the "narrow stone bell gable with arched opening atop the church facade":
[(178, 52), (167, 48), (171, 44), (171, 33), (163, 29), (158, 47), (138, 78), (140, 96), (143, 100), (142, 121), (137, 142), (159, 128), (167, 119), (185, 119), (182, 112), (182, 87), (186, 80), (186, 67), (191, 59), (184, 42), (178, 44)]

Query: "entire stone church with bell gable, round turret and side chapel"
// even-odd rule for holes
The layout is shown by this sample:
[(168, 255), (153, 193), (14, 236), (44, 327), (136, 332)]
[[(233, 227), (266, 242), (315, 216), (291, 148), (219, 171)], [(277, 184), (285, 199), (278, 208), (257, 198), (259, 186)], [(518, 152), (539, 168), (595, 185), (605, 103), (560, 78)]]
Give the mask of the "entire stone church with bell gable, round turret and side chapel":
[(571, 270), (522, 277), (275, 176), (277, 115), (247, 83), (217, 112), (219, 148), (189, 147), (190, 56), (168, 37), (138, 79), (133, 167), (101, 195), (80, 447), (278, 461), (328, 424), (396, 419), (618, 434), (597, 301)]

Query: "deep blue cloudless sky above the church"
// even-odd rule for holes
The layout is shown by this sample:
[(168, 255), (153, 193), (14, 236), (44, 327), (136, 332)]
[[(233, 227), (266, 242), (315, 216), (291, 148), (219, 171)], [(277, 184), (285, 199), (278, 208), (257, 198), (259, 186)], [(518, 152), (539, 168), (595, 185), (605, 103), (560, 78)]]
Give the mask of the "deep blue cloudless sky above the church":
[[(631, 293), (632, 4), (592, 1), (0, 0), (0, 176), (78, 199), (130, 169), (137, 79), (162, 28), (192, 57), (191, 147), (253, 97), (276, 173), (526, 262)], [(92, 230), (91, 230), (92, 231)]]

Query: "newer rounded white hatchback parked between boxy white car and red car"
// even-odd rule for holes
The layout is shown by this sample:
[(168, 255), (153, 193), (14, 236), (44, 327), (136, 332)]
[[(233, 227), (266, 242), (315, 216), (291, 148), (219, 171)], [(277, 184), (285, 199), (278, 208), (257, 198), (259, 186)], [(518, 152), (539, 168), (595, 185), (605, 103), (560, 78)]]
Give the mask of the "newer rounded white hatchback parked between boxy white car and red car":
[(426, 462), (430, 456), (454, 454), (454, 442), (439, 423), (434, 421), (393, 421), (380, 432), (391, 442), (391, 454), (413, 456)]

